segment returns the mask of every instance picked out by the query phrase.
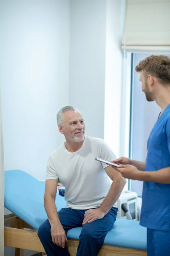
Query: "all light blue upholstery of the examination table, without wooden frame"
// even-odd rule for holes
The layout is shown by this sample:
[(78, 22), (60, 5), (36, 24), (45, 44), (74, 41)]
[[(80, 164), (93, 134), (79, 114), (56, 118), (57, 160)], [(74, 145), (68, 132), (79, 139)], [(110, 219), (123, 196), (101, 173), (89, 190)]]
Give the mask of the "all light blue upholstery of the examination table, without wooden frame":
[[(36, 230), (47, 219), (44, 209), (45, 184), (21, 170), (5, 172), (5, 207)], [(65, 207), (65, 200), (56, 195), (59, 211)], [(79, 239), (82, 227), (68, 231), (67, 237)], [(146, 250), (146, 228), (139, 221), (116, 219), (111, 231), (105, 237), (104, 244)]]

